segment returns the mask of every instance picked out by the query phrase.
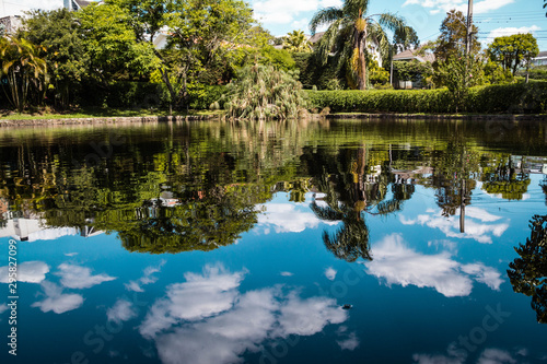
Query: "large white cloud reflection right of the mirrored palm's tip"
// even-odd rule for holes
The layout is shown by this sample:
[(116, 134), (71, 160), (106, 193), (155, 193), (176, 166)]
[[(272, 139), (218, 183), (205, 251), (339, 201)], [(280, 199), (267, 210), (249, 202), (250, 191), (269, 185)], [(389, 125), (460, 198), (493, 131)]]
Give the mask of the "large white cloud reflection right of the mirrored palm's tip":
[(461, 265), (447, 251), (423, 255), (407, 247), (399, 234), (386, 236), (372, 248), (374, 260), (362, 262), (370, 274), (387, 284), (432, 287), (446, 297), (467, 296), (473, 280), (499, 290), (501, 274), (481, 263)]

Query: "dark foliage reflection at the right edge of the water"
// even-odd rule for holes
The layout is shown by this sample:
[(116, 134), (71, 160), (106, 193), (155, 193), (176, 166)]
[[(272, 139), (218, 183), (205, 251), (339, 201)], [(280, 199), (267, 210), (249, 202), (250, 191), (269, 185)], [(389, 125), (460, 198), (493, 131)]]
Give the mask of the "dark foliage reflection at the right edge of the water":
[(515, 247), (519, 258), (509, 265), (513, 291), (532, 296), (537, 321), (547, 324), (547, 215), (534, 215), (531, 235)]

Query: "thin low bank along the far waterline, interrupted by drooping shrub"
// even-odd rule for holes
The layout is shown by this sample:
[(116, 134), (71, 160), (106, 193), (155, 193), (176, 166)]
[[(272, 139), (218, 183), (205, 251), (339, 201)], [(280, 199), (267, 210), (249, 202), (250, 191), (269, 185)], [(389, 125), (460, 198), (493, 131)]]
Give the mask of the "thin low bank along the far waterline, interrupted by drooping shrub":
[[(424, 119), (424, 120), (534, 120), (547, 121), (547, 114), (370, 114), (335, 113), (317, 115), (327, 119)], [(112, 125), (112, 124), (147, 124), (147, 122), (177, 122), (177, 121), (205, 121), (218, 119), (217, 115), (187, 115), (187, 116), (124, 116), (124, 117), (90, 117), (90, 118), (61, 118), (61, 119), (0, 119), (1, 127), (47, 127), (68, 125)]]

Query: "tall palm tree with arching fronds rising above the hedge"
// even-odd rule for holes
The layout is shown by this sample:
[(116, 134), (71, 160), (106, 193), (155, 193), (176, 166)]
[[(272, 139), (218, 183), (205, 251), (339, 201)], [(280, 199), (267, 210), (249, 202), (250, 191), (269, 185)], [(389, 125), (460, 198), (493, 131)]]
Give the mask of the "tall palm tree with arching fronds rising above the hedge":
[[(384, 28), (406, 33), (405, 20), (393, 13), (366, 15), (369, 0), (345, 0), (341, 8), (325, 8), (319, 10), (310, 22), (312, 34), (321, 25), (329, 25), (319, 42), (317, 51), (325, 63), (328, 54), (335, 49), (341, 57), (341, 62), (349, 62), (349, 69), (357, 80), (357, 89), (366, 87), (366, 61), (371, 61), (369, 45), (380, 48), (381, 55), (386, 55), (389, 42)], [(406, 36), (405, 36), (406, 37)]]

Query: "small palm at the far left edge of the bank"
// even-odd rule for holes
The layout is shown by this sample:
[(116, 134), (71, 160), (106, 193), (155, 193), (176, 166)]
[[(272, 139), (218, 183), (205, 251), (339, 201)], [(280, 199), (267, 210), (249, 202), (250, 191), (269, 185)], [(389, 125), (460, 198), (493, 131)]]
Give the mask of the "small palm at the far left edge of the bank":
[(39, 57), (43, 50), (44, 47), (23, 38), (0, 38), (0, 77), (8, 79), (8, 99), (20, 113), (26, 106), (28, 91), (44, 91), (40, 77), (46, 74), (47, 68)]

